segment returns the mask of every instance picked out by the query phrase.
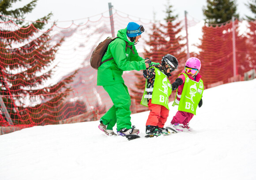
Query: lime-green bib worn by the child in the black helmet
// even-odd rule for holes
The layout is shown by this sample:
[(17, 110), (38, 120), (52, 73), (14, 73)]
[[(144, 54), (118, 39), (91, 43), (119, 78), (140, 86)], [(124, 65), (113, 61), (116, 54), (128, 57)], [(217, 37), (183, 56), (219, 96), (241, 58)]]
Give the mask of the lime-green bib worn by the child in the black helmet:
[[(154, 66), (151, 68), (154, 68), (155, 71), (154, 87), (147, 88), (146, 80), (145, 90), (140, 104), (148, 106), (147, 99), (151, 98), (152, 104), (160, 104), (169, 110), (169, 96), (172, 93), (171, 83), (169, 82), (167, 76), (164, 73), (162, 73), (158, 68)], [(152, 92), (152, 95), (147, 94), (147, 92)]]

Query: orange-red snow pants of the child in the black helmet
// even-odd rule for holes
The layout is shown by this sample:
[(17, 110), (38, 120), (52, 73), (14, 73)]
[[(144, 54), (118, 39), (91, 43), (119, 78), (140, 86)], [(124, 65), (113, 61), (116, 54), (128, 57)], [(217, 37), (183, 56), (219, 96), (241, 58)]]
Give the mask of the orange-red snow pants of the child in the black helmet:
[(152, 104), (151, 99), (148, 102), (150, 113), (147, 118), (146, 126), (164, 127), (169, 116), (169, 110), (159, 104)]

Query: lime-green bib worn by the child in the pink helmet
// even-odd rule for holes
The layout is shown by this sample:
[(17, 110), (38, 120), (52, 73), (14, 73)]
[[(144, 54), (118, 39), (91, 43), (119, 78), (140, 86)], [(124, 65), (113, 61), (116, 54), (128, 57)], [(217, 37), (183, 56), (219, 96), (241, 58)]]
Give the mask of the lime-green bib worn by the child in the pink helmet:
[(181, 74), (185, 76), (185, 83), (181, 93), (180, 101), (177, 101), (177, 91), (173, 106), (179, 105), (179, 111), (190, 112), (196, 115), (196, 108), (203, 96), (203, 80), (200, 79), (199, 82), (196, 82), (190, 79), (186, 73)]

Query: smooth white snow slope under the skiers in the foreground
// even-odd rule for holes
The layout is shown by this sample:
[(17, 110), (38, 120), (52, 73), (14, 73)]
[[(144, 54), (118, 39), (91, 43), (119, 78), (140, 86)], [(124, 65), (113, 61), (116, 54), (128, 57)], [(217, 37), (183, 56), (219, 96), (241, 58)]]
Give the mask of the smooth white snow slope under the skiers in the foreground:
[[(255, 180), (256, 79), (207, 89), (192, 132), (108, 137), (99, 121), (34, 126), (0, 136), (0, 180)], [(171, 106), (166, 125), (177, 107)]]

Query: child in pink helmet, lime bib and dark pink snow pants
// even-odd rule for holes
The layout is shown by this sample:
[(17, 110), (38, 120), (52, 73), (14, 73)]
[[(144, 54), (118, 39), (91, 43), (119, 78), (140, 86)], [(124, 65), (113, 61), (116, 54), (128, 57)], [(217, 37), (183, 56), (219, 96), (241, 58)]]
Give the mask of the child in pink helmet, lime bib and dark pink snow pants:
[(166, 126), (173, 132), (189, 131), (188, 123), (196, 115), (197, 106), (200, 108), (203, 104), (203, 81), (199, 74), (201, 62), (198, 58), (188, 58), (184, 70), (172, 83), (172, 90), (177, 90), (174, 105), (179, 105), (178, 112)]

